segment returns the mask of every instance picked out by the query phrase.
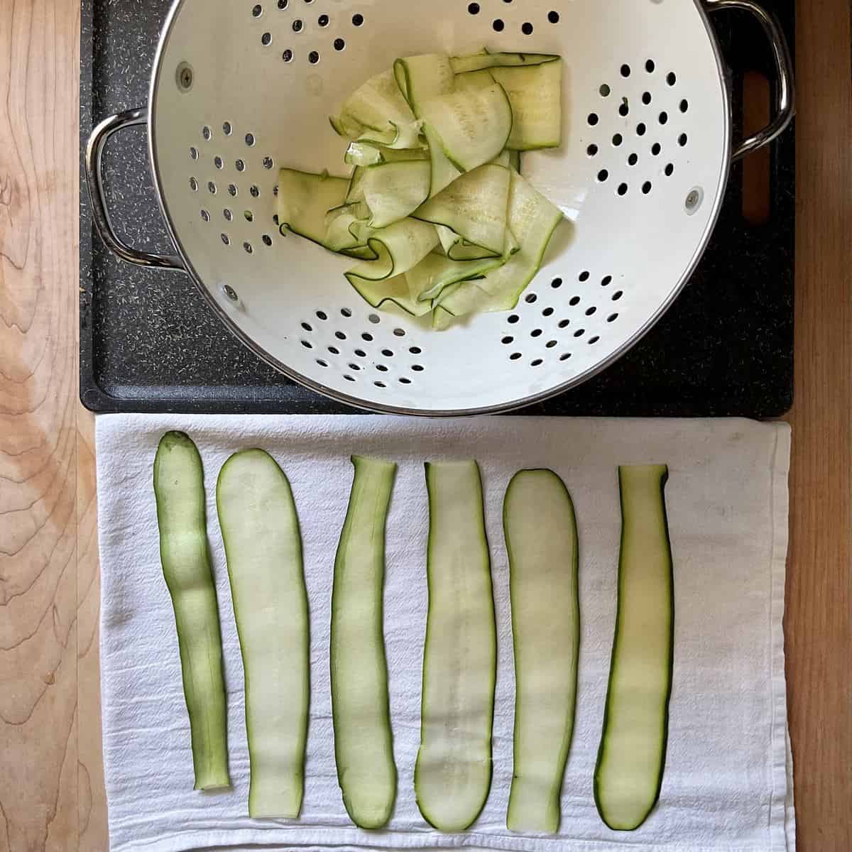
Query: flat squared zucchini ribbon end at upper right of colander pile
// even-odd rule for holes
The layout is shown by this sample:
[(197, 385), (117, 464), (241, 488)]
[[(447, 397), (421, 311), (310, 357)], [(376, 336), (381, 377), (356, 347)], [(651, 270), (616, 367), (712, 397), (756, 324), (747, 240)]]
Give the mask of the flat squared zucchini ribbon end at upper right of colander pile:
[(506, 146), (515, 151), (558, 148), (562, 144), (562, 62), (518, 68), (492, 68), (512, 105), (514, 123)]

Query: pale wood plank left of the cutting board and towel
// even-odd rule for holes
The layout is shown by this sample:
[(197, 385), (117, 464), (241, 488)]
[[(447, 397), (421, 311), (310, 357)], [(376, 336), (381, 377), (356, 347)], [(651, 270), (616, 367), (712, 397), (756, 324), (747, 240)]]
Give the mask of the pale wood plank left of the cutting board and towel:
[(77, 845), (78, 30), (0, 4), (0, 849)]

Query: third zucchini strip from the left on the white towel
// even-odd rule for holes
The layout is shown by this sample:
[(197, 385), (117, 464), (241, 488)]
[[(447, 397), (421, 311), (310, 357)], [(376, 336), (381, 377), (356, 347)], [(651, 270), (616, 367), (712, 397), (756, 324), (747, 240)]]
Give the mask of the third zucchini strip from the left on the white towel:
[(361, 828), (381, 828), (396, 797), (383, 638), (384, 528), (396, 465), (358, 456), (352, 463), (331, 596), (334, 753), (348, 815)]

